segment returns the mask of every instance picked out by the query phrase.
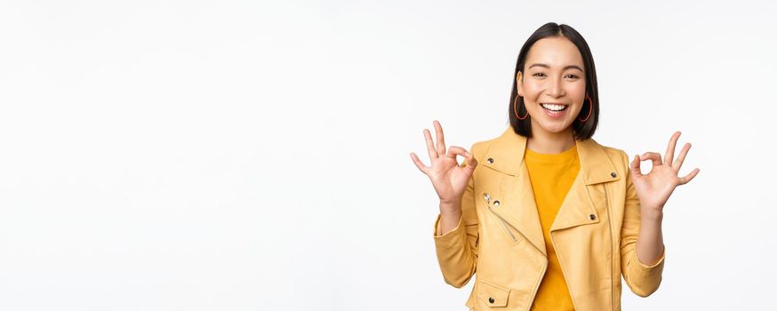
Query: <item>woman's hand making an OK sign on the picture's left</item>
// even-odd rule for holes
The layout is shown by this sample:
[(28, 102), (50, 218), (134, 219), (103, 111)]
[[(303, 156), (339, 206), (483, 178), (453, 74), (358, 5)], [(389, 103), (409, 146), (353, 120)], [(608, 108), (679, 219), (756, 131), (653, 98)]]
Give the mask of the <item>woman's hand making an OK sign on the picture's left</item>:
[[(434, 121), (434, 125), (437, 134), (437, 147), (434, 141), (432, 141), (429, 130), (423, 130), (429, 151), (429, 159), (432, 162), (431, 166), (425, 166), (421, 163), (421, 160), (413, 152), (410, 153), (410, 157), (413, 159), (415, 166), (431, 179), (432, 186), (435, 187), (437, 196), (440, 198), (440, 203), (459, 205), (461, 203), (461, 196), (464, 195), (464, 190), (469, 182), (469, 177), (475, 171), (477, 161), (469, 155), (467, 150), (461, 147), (451, 146), (445, 152), (443, 128), (437, 120)], [(456, 161), (456, 156), (464, 156), (467, 165), (460, 166)]]

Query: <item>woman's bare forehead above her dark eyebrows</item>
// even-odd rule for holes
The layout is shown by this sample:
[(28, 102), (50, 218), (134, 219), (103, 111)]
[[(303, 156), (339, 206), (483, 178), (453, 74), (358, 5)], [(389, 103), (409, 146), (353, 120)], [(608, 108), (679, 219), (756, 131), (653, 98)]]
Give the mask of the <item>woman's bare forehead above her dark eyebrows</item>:
[(564, 68), (578, 65), (583, 68), (582, 55), (572, 41), (564, 36), (551, 36), (537, 40), (526, 54), (525, 67), (534, 63), (549, 65), (550, 68)]

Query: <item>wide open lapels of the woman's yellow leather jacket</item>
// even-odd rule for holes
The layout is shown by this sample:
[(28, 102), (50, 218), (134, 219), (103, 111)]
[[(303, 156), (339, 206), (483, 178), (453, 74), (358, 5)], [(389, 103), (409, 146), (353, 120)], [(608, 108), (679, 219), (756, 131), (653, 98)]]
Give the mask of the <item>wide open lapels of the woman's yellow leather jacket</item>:
[[(493, 185), (498, 189), (502, 201), (499, 207), (493, 207), (493, 211), (547, 256), (532, 183), (524, 162), (526, 141), (524, 136), (518, 135), (508, 126), (501, 136), (493, 140), (482, 157), (486, 161), (481, 163), (508, 175), (499, 179), (500, 185)], [(595, 206), (605, 204), (606, 197), (594, 191), (596, 185), (621, 179), (618, 174), (613, 176), (615, 166), (596, 140), (578, 140), (575, 146), (580, 157), (580, 171), (550, 226), (550, 232), (598, 223), (599, 215)], [(591, 195), (592, 192), (597, 195)]]

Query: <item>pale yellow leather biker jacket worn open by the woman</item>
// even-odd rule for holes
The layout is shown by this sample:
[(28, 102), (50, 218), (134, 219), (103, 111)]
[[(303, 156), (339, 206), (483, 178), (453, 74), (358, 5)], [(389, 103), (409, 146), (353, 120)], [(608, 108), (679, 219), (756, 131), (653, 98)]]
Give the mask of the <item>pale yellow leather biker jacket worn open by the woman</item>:
[[(629, 156), (593, 139), (576, 146), (581, 171), (550, 239), (575, 310), (621, 310), (621, 274), (631, 291), (646, 297), (661, 284), (664, 254), (651, 267), (637, 260), (640, 208)], [(548, 267), (525, 147), (526, 138), (510, 126), (473, 144), (469, 153), (478, 164), (461, 199), (459, 225), (440, 235), (437, 216), (434, 239), (445, 283), (459, 288), (476, 275), (465, 304), (470, 309), (529, 310)]]

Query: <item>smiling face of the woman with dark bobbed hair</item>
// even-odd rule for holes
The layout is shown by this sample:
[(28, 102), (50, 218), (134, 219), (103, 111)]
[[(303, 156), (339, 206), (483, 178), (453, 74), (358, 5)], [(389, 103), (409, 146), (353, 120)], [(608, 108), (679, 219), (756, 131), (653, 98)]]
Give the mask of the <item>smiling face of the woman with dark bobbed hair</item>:
[[(524, 98), (532, 119), (533, 133), (573, 131), (572, 124), (586, 96), (584, 70), (580, 51), (564, 36), (543, 38), (532, 45), (524, 72), (519, 72), (516, 79), (518, 95)], [(582, 118), (587, 115), (584, 111)]]

